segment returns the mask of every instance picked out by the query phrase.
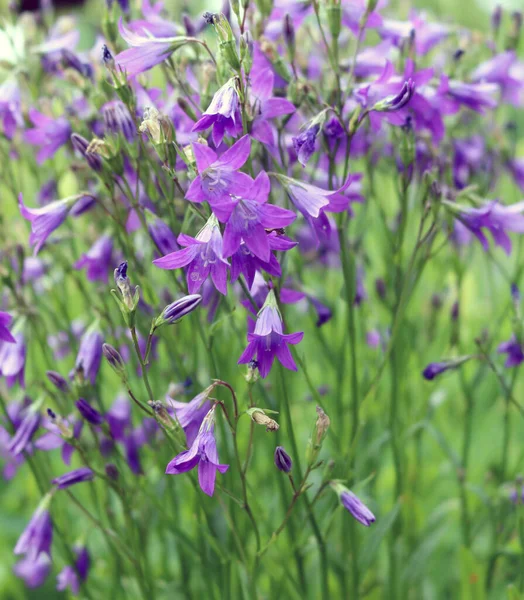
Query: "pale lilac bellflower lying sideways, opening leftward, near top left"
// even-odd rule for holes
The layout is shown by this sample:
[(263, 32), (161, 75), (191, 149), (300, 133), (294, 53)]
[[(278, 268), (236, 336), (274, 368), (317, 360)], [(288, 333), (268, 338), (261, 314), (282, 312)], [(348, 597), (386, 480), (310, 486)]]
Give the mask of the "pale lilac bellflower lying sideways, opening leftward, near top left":
[(149, 28), (144, 26), (139, 33), (131, 31), (124, 27), (122, 19), (118, 22), (118, 29), (131, 47), (117, 54), (115, 63), (127, 73), (128, 77), (134, 77), (159, 65), (186, 43), (186, 38), (180, 36), (154, 37), (154, 34), (150, 33), (153, 26)]

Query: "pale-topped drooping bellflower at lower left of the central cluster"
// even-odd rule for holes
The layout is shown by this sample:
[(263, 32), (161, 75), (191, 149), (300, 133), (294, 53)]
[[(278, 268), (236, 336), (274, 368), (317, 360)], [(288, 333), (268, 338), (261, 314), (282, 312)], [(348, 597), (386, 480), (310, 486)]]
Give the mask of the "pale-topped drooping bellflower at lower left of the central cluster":
[(209, 217), (196, 238), (181, 233), (178, 236), (178, 243), (185, 247), (157, 258), (153, 264), (161, 269), (187, 267), (187, 287), (190, 294), (198, 292), (207, 277), (211, 275), (216, 289), (225, 295), (229, 263), (223, 256), (222, 234), (216, 217), (214, 215)]

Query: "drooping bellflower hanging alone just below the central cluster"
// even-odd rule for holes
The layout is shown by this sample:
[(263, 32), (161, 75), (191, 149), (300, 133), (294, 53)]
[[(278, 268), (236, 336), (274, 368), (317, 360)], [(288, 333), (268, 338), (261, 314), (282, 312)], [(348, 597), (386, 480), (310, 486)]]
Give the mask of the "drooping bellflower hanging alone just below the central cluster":
[(282, 318), (275, 293), (270, 290), (264, 306), (258, 313), (254, 332), (247, 335), (248, 345), (238, 359), (238, 364), (245, 365), (256, 357), (260, 376), (265, 378), (277, 357), (286, 369), (296, 371), (297, 366), (288, 344), (298, 344), (303, 337), (302, 332), (290, 334), (282, 332)]

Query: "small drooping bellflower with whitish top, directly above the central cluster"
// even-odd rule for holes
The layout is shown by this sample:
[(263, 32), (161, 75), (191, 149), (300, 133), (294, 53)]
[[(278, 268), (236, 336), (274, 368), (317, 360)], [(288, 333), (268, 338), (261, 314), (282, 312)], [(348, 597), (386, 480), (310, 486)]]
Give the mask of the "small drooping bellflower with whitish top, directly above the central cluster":
[(240, 98), (235, 79), (230, 79), (213, 96), (211, 104), (193, 125), (192, 131), (205, 131), (213, 127), (213, 142), (219, 146), (224, 135), (237, 137), (242, 133)]

